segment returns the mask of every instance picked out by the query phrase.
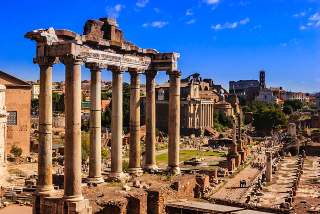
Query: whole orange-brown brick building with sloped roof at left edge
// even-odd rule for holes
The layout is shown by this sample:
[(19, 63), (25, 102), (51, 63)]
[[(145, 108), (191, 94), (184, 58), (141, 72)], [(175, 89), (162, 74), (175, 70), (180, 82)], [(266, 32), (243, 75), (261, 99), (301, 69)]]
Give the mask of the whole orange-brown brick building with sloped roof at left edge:
[(6, 152), (15, 144), (22, 149), (22, 155), (30, 153), (30, 105), (32, 85), (0, 71), (0, 84), (6, 87), (5, 106), (7, 110)]

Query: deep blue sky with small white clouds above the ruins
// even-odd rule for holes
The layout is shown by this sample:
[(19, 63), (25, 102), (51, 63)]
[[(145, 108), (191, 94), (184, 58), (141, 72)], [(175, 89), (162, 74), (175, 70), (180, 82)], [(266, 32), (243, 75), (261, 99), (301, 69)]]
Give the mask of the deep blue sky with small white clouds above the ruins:
[[(36, 80), (35, 42), (23, 38), (27, 31), (82, 34), (86, 20), (101, 17), (115, 18), (124, 39), (138, 47), (179, 53), (182, 77), (200, 73), (228, 90), (229, 81), (258, 79), (263, 69), (267, 87), (320, 91), (320, 0), (4, 1), (0, 70)], [(81, 76), (90, 77), (84, 66)], [(64, 80), (61, 63), (52, 79)], [(102, 80), (111, 80), (111, 72), (104, 70)], [(159, 72), (156, 84), (167, 80)]]

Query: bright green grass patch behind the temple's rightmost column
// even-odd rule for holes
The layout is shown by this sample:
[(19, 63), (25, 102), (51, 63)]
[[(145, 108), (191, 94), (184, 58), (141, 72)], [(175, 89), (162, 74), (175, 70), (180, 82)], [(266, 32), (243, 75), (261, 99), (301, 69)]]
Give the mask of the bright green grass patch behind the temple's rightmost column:
[[(211, 152), (211, 151), (196, 151), (196, 150), (183, 150), (179, 152), (179, 160), (189, 160), (191, 157), (202, 157), (204, 155), (197, 155), (203, 153), (204, 155), (214, 155), (217, 157), (221, 157), (221, 153), (219, 152)], [(155, 156), (156, 162), (168, 162), (168, 153), (160, 154)]]

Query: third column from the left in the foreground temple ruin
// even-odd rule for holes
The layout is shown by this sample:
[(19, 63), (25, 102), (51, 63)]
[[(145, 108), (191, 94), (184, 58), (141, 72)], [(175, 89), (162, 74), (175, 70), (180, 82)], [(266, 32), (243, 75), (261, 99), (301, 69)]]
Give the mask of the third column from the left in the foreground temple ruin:
[(101, 176), (101, 71), (105, 64), (86, 63), (90, 69), (89, 176), (87, 183), (104, 182)]

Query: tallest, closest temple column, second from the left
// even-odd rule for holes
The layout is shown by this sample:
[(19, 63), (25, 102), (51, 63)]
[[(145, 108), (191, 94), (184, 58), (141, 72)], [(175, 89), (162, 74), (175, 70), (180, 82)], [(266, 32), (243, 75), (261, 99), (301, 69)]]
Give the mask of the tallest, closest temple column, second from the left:
[(81, 192), (81, 66), (75, 55), (63, 55), (65, 65), (64, 194), (67, 201), (80, 201)]

